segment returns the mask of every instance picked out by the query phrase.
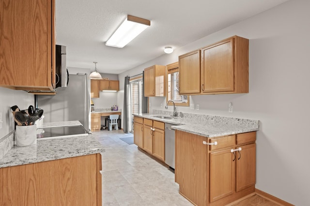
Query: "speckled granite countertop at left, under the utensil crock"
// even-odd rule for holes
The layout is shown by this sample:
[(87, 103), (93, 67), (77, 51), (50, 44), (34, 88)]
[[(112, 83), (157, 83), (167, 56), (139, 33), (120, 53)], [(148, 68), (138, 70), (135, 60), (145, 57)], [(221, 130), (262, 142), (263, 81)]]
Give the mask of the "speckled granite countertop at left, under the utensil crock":
[(104, 151), (104, 147), (102, 147), (93, 135), (38, 139), (35, 145), (12, 147), (12, 149), (0, 159), (0, 168), (78, 157)]

